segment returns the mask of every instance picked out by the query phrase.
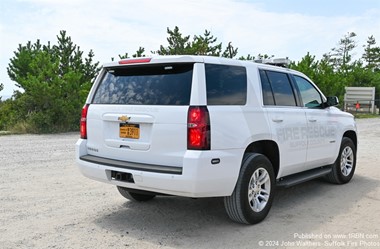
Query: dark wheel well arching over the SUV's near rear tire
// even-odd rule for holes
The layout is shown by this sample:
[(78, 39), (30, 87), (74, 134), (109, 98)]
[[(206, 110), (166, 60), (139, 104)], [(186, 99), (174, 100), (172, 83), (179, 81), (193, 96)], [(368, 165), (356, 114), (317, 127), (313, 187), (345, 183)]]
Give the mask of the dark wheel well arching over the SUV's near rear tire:
[(266, 156), (272, 163), (275, 176), (277, 177), (280, 168), (280, 153), (275, 142), (262, 140), (251, 143), (244, 153), (253, 152)]

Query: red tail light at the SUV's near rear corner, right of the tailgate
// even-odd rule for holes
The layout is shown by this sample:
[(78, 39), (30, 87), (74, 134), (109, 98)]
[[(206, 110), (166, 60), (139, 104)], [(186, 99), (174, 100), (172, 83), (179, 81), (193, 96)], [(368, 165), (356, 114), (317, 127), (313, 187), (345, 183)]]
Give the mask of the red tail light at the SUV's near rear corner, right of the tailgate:
[(206, 106), (190, 106), (187, 116), (187, 149), (210, 149), (210, 116)]

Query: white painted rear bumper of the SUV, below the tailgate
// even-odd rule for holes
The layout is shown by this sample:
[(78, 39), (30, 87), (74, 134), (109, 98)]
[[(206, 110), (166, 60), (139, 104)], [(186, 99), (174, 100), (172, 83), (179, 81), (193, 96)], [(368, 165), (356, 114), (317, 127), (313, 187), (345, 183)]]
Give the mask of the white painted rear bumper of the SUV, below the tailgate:
[[(88, 178), (131, 189), (187, 197), (232, 194), (238, 178), (242, 150), (186, 151), (179, 166), (125, 162), (87, 155), (86, 140), (76, 143), (76, 162)], [(212, 164), (212, 159), (220, 163)], [(133, 176), (134, 183), (115, 180), (111, 172)]]

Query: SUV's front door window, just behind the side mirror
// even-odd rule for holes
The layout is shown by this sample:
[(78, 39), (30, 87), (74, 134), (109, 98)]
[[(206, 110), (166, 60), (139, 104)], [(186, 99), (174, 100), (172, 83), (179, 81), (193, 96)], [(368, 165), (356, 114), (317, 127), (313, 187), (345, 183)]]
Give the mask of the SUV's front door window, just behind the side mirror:
[(317, 89), (309, 81), (300, 76), (294, 75), (294, 79), (301, 93), (303, 105), (309, 108), (322, 107), (322, 97)]

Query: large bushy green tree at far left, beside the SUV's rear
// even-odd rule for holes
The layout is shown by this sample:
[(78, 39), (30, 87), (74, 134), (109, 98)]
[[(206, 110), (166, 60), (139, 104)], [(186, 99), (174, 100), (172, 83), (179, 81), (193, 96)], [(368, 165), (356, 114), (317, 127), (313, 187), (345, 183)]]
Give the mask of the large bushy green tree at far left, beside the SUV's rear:
[[(8, 75), (21, 88), (9, 114), (27, 123), (27, 132), (76, 130), (81, 107), (99, 71), (91, 50), (87, 57), (65, 31), (57, 45), (19, 45), (10, 59)], [(8, 124), (16, 125), (16, 124)]]

